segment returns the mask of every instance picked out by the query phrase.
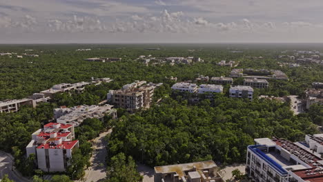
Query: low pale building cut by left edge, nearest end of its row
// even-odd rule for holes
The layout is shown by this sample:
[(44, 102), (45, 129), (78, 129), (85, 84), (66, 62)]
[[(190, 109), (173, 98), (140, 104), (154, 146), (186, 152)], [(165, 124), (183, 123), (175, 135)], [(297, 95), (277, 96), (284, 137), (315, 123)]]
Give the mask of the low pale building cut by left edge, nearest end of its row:
[(0, 113), (17, 112), (21, 105), (32, 105), (32, 99), (14, 99), (0, 101)]

